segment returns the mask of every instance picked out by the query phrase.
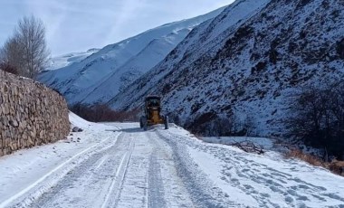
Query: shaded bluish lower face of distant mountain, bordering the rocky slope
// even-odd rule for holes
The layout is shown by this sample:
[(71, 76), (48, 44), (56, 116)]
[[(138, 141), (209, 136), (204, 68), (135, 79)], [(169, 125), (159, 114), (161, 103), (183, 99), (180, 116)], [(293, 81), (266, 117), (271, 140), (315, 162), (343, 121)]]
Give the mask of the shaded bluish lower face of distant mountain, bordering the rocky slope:
[(154, 39), (139, 54), (130, 58), (118, 70), (111, 73), (106, 80), (97, 83), (94, 90), (91, 92), (87, 90), (86, 93), (77, 95), (76, 99), (80, 99), (84, 103), (109, 101), (119, 91), (128, 87), (130, 83), (153, 68), (159, 61), (162, 61), (167, 53), (171, 52), (177, 43), (186, 37), (190, 30), (190, 28), (181, 29)]

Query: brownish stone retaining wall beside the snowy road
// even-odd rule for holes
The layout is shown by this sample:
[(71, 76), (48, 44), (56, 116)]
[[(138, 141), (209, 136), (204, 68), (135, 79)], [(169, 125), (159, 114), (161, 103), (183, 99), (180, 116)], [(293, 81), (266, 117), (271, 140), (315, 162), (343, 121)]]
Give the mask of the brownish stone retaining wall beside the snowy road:
[(67, 103), (59, 93), (0, 71), (0, 156), (55, 142), (69, 132)]

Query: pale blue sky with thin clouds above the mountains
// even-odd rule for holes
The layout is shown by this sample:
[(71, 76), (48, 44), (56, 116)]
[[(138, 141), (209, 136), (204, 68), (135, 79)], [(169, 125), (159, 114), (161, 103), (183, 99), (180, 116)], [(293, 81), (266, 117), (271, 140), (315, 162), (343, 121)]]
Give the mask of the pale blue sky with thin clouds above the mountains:
[(234, 0), (0, 0), (0, 46), (18, 19), (43, 20), (54, 55), (117, 43), (161, 24), (194, 17)]

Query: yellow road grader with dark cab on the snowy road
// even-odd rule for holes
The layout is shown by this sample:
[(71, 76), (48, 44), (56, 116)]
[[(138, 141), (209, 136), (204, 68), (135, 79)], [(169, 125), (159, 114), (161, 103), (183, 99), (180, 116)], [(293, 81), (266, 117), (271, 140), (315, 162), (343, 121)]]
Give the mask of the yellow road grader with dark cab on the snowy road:
[(149, 126), (164, 124), (168, 129), (168, 117), (160, 114), (161, 98), (159, 96), (147, 96), (144, 103), (143, 116), (139, 118), (139, 127), (145, 131)]

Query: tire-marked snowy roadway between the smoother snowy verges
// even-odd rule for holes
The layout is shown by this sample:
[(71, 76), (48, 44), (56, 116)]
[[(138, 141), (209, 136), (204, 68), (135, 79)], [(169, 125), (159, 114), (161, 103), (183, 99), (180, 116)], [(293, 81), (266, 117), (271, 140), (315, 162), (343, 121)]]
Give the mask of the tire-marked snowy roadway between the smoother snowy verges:
[(114, 132), (108, 148), (82, 161), (31, 206), (193, 206), (156, 132), (126, 126)]

